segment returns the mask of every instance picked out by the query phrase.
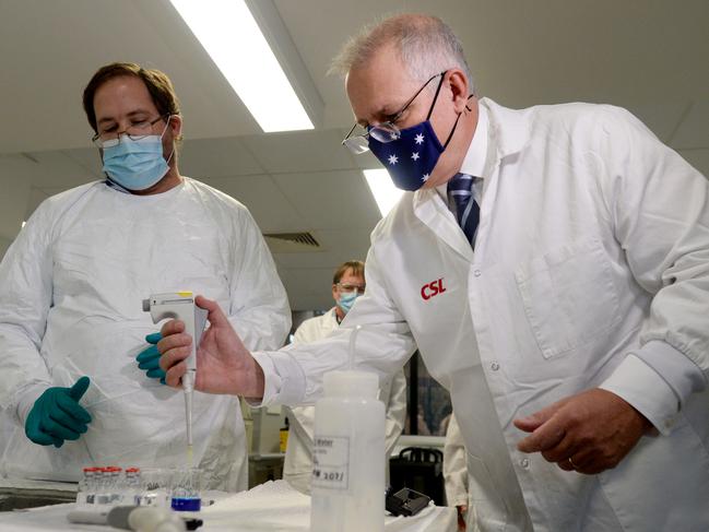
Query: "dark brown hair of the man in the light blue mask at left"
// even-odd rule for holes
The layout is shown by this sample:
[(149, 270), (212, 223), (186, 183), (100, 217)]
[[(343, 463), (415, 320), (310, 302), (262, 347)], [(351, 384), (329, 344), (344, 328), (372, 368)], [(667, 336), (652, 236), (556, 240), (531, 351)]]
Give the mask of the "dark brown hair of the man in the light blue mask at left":
[(132, 75), (145, 83), (145, 87), (161, 116), (180, 114), (179, 101), (175, 94), (173, 82), (169, 81), (167, 74), (159, 70), (144, 69), (140, 64), (132, 62), (115, 62), (99, 68), (86, 85), (86, 88), (84, 88), (84, 111), (94, 131), (98, 131), (96, 127), (96, 110), (94, 109), (96, 91), (108, 80), (122, 75)]

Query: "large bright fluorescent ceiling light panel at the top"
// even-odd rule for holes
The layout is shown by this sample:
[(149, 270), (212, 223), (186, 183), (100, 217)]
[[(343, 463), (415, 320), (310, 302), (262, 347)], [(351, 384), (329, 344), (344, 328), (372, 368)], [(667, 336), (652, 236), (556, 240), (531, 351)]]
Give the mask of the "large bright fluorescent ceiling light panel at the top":
[(264, 132), (314, 129), (244, 0), (170, 0)]

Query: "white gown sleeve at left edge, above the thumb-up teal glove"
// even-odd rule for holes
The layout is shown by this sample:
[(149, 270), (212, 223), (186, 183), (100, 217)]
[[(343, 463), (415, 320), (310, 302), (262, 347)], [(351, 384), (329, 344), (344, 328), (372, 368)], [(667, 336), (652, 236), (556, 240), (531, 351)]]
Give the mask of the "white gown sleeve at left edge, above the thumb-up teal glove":
[(45, 202), (0, 263), (0, 409), (19, 423), (51, 386), (39, 350), (52, 303), (52, 225)]

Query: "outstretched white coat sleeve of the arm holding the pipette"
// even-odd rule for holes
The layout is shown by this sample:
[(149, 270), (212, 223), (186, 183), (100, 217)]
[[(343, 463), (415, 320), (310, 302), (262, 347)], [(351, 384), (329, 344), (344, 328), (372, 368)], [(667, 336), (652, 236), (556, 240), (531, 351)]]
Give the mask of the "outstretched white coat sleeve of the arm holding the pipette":
[(322, 376), (348, 364), (348, 342), (356, 326), (354, 368), (375, 371), (390, 379), (415, 350), (409, 324), (391, 300), (380, 273), (376, 245), (367, 253), (367, 292), (358, 297), (347, 318), (330, 336), (305, 345), (288, 345), (279, 352), (257, 352), (265, 389), (262, 404), (314, 403), (322, 393)]

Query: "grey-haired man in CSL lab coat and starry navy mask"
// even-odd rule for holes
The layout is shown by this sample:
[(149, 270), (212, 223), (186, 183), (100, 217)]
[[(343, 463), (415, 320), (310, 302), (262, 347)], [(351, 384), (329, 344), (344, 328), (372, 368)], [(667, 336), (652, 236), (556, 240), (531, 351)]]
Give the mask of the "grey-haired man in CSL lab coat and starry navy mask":
[(224, 368), (200, 386), (312, 401), (363, 326), (358, 367), (387, 378), (415, 342), (450, 391), (471, 530), (709, 530), (709, 182), (623, 109), (471, 96), (435, 17), (388, 19), (338, 64), (346, 144), (411, 190), (371, 235), (367, 294), (329, 339), (253, 356), (200, 299), (223, 346), (200, 358)]

